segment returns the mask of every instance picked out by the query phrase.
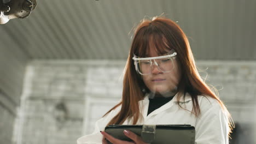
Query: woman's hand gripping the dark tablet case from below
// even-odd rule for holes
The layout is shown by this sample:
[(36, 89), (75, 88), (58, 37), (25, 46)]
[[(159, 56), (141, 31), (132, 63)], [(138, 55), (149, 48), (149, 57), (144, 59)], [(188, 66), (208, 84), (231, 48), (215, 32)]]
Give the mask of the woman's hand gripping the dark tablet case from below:
[(141, 139), (140, 136), (136, 135), (135, 133), (132, 133), (129, 130), (124, 130), (124, 134), (127, 137), (129, 137), (131, 140), (133, 140), (133, 142), (122, 141), (122, 140), (119, 140), (119, 139), (115, 139), (115, 137), (105, 133), (104, 131), (101, 131), (101, 134), (103, 135), (103, 139), (102, 139), (103, 144), (107, 144), (107, 140), (110, 141), (113, 144), (146, 144), (145, 142), (143, 142), (143, 140)]

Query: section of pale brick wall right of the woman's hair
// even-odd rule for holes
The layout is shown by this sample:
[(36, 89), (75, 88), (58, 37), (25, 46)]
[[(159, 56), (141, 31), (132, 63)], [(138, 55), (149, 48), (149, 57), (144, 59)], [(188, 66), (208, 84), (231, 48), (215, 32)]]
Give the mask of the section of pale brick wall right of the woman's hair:
[[(198, 62), (206, 82), (216, 86), (235, 122), (253, 123), (256, 104), (256, 62)], [(205, 72), (200, 73), (202, 77)]]

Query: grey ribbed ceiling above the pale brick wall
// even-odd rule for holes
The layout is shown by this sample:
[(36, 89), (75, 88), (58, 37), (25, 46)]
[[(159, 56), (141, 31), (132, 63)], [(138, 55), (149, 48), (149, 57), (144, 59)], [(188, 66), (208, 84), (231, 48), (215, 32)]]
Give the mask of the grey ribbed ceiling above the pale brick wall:
[(37, 2), (27, 19), (0, 25), (0, 43), (28, 59), (126, 59), (132, 27), (165, 13), (187, 34), (196, 59), (256, 60), (254, 0)]

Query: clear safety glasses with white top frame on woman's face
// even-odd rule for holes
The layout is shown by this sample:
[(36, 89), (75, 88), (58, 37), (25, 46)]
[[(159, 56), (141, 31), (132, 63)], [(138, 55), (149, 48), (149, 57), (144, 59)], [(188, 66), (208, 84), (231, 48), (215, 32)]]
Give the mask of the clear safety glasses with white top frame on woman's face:
[(159, 57), (141, 58), (136, 55), (133, 56), (136, 71), (141, 75), (151, 74), (153, 67), (157, 67), (163, 73), (168, 73), (174, 69), (174, 59), (177, 53), (174, 50)]

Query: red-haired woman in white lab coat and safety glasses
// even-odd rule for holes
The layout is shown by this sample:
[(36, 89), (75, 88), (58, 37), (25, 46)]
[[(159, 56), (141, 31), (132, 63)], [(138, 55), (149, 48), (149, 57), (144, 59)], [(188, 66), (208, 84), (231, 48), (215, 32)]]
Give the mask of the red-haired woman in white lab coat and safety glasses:
[[(96, 122), (93, 134), (77, 142), (131, 143), (105, 133), (110, 124), (190, 124), (197, 144), (228, 143), (229, 119), (222, 101), (201, 79), (182, 29), (170, 19), (153, 17), (135, 28), (121, 102)], [(144, 143), (131, 131), (124, 134)]]

